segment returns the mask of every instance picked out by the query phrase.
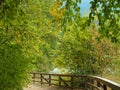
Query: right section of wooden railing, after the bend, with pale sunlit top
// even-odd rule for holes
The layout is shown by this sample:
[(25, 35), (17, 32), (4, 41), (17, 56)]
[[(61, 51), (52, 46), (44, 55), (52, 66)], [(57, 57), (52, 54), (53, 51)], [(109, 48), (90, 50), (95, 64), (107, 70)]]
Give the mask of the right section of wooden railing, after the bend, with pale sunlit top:
[[(92, 88), (98, 88), (97, 90), (120, 90), (120, 84), (111, 80), (98, 77), (98, 76), (87, 76), (88, 86)], [(91, 83), (90, 83), (91, 82)], [(109, 88), (109, 89), (108, 89)]]

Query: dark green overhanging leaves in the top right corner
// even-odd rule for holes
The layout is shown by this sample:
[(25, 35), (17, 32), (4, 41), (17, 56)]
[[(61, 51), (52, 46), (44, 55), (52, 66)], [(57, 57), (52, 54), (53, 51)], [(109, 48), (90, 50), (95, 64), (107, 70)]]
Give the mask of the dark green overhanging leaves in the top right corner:
[[(91, 1), (91, 13), (90, 18), (94, 17), (95, 15), (99, 18), (99, 24), (104, 24), (106, 20), (111, 20), (112, 24), (116, 24), (119, 21), (119, 4), (118, 0), (94, 0)], [(92, 18), (91, 18), (92, 19)]]

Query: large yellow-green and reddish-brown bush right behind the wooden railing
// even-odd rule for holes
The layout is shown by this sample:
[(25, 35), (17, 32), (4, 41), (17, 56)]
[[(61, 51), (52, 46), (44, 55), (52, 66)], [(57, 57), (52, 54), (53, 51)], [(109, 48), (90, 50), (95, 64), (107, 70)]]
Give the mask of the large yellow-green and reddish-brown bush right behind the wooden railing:
[(107, 38), (99, 40), (96, 30), (92, 26), (88, 31), (75, 24), (68, 26), (61, 38), (55, 64), (77, 74), (102, 74), (106, 67), (111, 68), (115, 46)]

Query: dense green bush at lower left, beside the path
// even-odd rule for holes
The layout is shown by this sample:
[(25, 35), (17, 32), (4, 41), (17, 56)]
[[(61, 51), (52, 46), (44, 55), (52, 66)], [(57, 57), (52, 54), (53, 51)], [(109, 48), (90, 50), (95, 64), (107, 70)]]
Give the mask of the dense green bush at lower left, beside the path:
[(23, 55), (21, 46), (8, 45), (0, 47), (0, 89), (21, 90), (28, 83), (29, 61)]

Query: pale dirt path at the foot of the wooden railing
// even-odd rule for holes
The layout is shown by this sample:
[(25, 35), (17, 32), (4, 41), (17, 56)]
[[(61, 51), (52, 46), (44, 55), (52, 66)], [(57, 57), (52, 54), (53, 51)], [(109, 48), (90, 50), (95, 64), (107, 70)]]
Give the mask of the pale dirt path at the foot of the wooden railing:
[[(57, 86), (41, 87), (39, 85), (29, 85), (28, 87), (24, 88), (24, 90), (73, 90), (73, 89), (59, 88)], [(80, 90), (80, 89), (74, 89), (74, 90)]]

